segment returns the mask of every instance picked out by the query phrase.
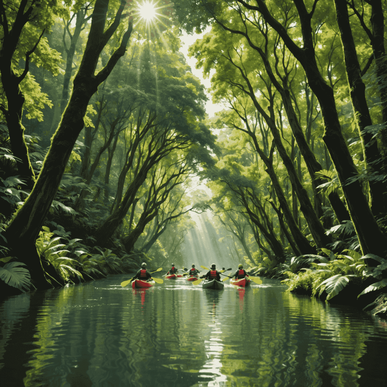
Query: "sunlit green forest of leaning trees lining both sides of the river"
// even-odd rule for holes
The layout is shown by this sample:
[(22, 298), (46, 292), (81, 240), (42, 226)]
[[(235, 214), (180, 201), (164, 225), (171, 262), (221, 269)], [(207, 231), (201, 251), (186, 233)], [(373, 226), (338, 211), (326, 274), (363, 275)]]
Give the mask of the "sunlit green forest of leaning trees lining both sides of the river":
[[(183, 265), (195, 211), (228, 259), (262, 273), (351, 250), (366, 277), (386, 255), (385, 12), (377, 0), (3, 2), (3, 267), (26, 265), (44, 288)], [(182, 30), (201, 33), (189, 53), (209, 90)], [(208, 96), (226, 108), (210, 117)]]

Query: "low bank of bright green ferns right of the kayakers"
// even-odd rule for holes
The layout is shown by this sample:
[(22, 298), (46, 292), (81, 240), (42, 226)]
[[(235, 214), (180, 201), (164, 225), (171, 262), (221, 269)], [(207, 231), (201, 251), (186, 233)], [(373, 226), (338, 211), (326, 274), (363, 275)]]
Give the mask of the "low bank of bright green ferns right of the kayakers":
[[(250, 267), (248, 273), (280, 279), (290, 293), (314, 297), (332, 305), (351, 306), (387, 319), (387, 280), (382, 278), (387, 261), (371, 254), (361, 257), (351, 250), (346, 251), (350, 255), (327, 252), (331, 253), (330, 260), (318, 255), (292, 257), (280, 265)], [(370, 256), (380, 264), (368, 267), (364, 261)]]

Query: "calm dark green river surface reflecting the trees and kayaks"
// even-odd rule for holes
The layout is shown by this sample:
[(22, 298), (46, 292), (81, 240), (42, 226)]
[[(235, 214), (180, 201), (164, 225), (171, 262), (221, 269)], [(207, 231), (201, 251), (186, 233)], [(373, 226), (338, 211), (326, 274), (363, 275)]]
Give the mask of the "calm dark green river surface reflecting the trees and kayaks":
[[(7, 386), (387, 386), (387, 321), (285, 293), (128, 276), (0, 304)], [(7, 384), (3, 384), (6, 380)]]

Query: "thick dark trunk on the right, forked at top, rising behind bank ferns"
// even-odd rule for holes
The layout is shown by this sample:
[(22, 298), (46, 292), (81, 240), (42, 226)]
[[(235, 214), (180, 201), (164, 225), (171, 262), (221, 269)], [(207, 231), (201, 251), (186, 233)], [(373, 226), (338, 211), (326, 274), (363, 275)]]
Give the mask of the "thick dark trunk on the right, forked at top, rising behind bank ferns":
[[(363, 255), (373, 253), (384, 257), (386, 238), (372, 215), (360, 182), (346, 184), (349, 178), (358, 175), (358, 171), (341, 132), (333, 90), (325, 83), (317, 66), (312, 38), (312, 14), (308, 13), (302, 0), (294, 0), (294, 3), (300, 17), (303, 48), (298, 47), (288, 36), (284, 27), (270, 14), (263, 0), (257, 0), (258, 7), (256, 8), (268, 24), (279, 33), (291, 53), (300, 61), (307, 75), (309, 86), (320, 103), (325, 129), (323, 140), (339, 177)], [(245, 4), (245, 7), (249, 6)]]

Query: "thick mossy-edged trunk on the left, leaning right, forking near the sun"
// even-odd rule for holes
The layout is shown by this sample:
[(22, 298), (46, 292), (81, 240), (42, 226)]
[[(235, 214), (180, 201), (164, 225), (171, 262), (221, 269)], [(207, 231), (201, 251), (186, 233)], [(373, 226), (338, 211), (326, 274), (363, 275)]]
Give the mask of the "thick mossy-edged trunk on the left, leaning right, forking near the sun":
[[(125, 53), (132, 32), (131, 22), (123, 36), (120, 47), (112, 55), (106, 67), (97, 75), (94, 75), (99, 54), (118, 27), (125, 5), (125, 3), (121, 4), (115, 21), (104, 32), (106, 16), (101, 17), (101, 15), (106, 15), (108, 3), (108, 0), (96, 0), (94, 15), (97, 16), (92, 18), (86, 49), (74, 79), (74, 88), (70, 101), (51, 140), (50, 150), (43, 162), (38, 180), (24, 205), (19, 209), (5, 231), (11, 252), (17, 249), (18, 246), (25, 247), (22, 251), (28, 251), (28, 249), (34, 247), (36, 237), (57, 193), (75, 141), (84, 126), (83, 117), (86, 114), (89, 99), (97, 91), (98, 85), (110, 74), (118, 59)], [(20, 251), (17, 252), (19, 259), (29, 264), (28, 254), (26, 256), (21, 255)]]

